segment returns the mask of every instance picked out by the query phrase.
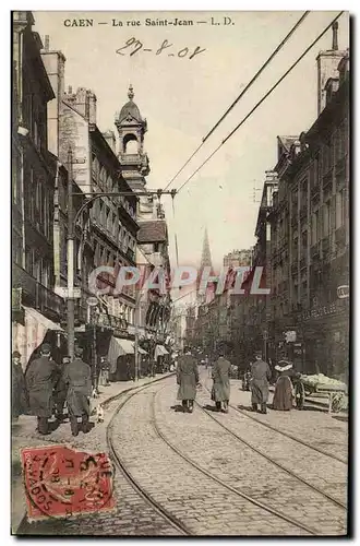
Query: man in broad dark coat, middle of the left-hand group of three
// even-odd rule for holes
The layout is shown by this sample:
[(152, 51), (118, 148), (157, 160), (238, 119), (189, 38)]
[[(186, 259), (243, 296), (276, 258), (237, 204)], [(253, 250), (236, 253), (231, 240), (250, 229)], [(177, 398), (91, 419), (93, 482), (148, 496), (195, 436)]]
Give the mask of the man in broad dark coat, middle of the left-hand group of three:
[(48, 435), (49, 417), (52, 415), (52, 389), (57, 376), (57, 365), (51, 359), (51, 347), (44, 343), (40, 357), (28, 366), (25, 380), (32, 415), (37, 417), (37, 430)]

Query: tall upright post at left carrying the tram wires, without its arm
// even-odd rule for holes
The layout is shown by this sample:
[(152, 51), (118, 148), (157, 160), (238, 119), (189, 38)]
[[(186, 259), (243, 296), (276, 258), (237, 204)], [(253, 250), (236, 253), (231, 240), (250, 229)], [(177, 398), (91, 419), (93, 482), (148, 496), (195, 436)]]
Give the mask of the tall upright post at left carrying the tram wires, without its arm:
[(74, 204), (72, 188), (72, 150), (68, 151), (68, 354), (74, 357), (75, 299), (74, 299)]

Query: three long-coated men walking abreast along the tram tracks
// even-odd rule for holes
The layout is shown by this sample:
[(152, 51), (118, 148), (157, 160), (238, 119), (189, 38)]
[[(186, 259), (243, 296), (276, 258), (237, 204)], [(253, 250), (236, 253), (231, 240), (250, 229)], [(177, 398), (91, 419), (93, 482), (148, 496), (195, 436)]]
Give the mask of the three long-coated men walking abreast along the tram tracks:
[[(218, 358), (212, 367), (212, 400), (215, 402), (218, 412), (228, 413), (229, 411), (230, 371), (231, 364), (225, 358), (225, 351), (219, 347)], [(256, 352), (254, 355), (254, 361), (251, 364), (251, 377), (252, 410), (257, 412), (260, 408), (260, 413), (266, 414), (268, 382), (272, 378), (272, 371), (268, 364), (263, 360), (261, 352)], [(192, 413), (200, 381), (197, 363), (192, 356), (190, 347), (185, 347), (183, 355), (179, 357), (177, 382), (179, 385), (178, 400), (182, 401), (183, 412)]]

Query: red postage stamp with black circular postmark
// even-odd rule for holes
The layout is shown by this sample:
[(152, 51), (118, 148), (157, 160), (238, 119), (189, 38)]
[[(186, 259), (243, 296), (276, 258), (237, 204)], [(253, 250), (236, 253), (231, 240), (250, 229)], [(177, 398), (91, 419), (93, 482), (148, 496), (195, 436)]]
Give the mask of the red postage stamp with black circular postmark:
[(115, 506), (111, 462), (65, 446), (21, 451), (31, 520), (110, 510)]

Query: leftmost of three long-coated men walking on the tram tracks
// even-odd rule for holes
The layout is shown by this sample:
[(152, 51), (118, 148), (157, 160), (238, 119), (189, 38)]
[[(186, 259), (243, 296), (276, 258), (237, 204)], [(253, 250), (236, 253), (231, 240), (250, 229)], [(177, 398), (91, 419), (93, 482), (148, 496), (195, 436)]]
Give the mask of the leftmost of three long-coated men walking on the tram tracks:
[(179, 385), (178, 400), (182, 401), (183, 411), (192, 413), (199, 384), (199, 369), (189, 347), (184, 348), (184, 354), (178, 360), (177, 383)]

